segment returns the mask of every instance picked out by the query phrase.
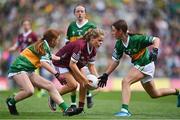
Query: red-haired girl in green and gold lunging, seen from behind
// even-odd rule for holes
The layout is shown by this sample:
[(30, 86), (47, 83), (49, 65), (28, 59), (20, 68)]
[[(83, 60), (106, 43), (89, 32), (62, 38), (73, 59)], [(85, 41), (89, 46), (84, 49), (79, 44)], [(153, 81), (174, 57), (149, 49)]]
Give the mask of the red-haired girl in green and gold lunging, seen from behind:
[[(58, 38), (58, 31), (53, 29), (46, 31), (43, 38), (25, 48), (10, 66), (8, 77), (11, 77), (20, 86), (20, 91), (6, 100), (10, 114), (19, 114), (16, 103), (32, 96), (34, 86), (37, 86), (49, 92), (65, 115), (72, 115), (73, 109), (67, 107), (53, 83), (34, 72), (35, 69), (42, 66), (59, 79), (60, 74), (49, 64), (51, 59), (59, 59), (50, 51), (50, 47), (54, 48), (57, 45)], [(60, 82), (63, 85), (66, 84), (66, 81)]]

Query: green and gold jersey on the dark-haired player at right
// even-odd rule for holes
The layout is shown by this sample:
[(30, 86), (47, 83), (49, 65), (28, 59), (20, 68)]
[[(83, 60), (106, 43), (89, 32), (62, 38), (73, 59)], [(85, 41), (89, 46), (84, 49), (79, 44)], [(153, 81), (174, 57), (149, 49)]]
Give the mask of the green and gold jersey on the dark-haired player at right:
[(123, 53), (131, 57), (131, 62), (134, 65), (144, 66), (149, 64), (149, 51), (148, 46), (153, 44), (153, 37), (146, 35), (128, 35), (127, 44), (122, 40), (117, 39), (112, 58), (119, 61)]

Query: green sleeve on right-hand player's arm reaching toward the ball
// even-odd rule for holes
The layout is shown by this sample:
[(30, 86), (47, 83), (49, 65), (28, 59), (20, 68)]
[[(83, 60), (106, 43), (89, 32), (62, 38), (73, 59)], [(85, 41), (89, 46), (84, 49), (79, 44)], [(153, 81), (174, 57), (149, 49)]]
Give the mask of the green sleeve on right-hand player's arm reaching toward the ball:
[(119, 42), (117, 41), (113, 50), (112, 59), (116, 62), (119, 62), (122, 55), (123, 55), (123, 49), (121, 48)]

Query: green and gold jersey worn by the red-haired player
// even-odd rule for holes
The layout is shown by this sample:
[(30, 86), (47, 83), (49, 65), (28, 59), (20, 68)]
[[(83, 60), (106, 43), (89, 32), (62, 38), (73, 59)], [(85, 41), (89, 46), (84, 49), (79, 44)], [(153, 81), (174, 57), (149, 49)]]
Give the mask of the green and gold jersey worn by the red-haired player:
[(35, 50), (34, 44), (24, 49), (20, 55), (15, 59), (9, 68), (9, 73), (16, 73), (20, 71), (33, 72), (41, 66), (40, 61), (51, 60), (50, 47), (46, 40), (44, 40), (45, 56), (41, 56)]

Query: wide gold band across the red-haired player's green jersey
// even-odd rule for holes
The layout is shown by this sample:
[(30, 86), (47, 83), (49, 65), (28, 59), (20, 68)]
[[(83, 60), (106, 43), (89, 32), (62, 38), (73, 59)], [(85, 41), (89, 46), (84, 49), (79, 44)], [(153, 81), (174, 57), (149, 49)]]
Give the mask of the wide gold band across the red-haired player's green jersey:
[(26, 57), (36, 68), (41, 66), (40, 58), (36, 56), (31, 50), (26, 48), (21, 52), (21, 55)]

